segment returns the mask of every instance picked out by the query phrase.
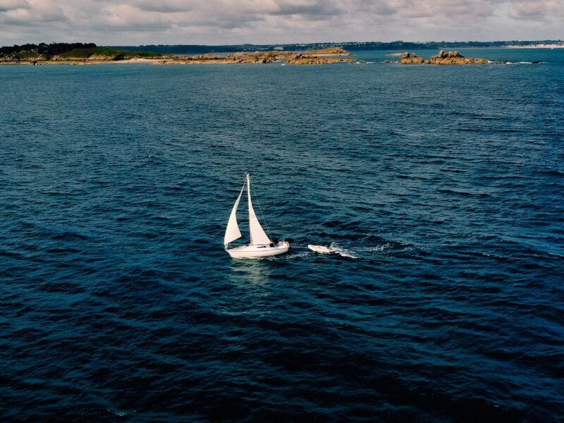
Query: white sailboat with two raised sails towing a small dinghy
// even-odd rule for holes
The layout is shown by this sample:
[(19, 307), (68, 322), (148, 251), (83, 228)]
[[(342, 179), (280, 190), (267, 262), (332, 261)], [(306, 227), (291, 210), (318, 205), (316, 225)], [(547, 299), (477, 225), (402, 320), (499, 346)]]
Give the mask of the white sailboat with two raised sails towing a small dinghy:
[[(245, 185), (247, 186), (247, 197), (249, 203), (249, 231), (251, 235), (251, 243), (249, 245), (242, 245), (240, 247), (234, 247), (228, 249), (228, 244), (232, 243), (234, 240), (241, 238), (241, 231), (239, 231), (239, 226), (237, 224), (237, 208), (239, 207), (239, 202), (245, 191)], [(229, 253), (234, 259), (256, 259), (259, 257), (268, 257), (271, 255), (278, 255), (287, 252), (290, 248), (290, 243), (288, 241), (274, 242), (268, 235), (264, 232), (262, 226), (260, 226), (259, 219), (255, 214), (255, 209), (252, 208), (251, 202), (251, 177), (247, 173), (245, 182), (243, 183), (243, 188), (239, 192), (239, 196), (233, 205), (231, 210), (231, 215), (229, 216), (229, 221), (227, 223), (227, 228), (225, 231), (225, 237), (223, 238), (223, 246), (226, 252)]]

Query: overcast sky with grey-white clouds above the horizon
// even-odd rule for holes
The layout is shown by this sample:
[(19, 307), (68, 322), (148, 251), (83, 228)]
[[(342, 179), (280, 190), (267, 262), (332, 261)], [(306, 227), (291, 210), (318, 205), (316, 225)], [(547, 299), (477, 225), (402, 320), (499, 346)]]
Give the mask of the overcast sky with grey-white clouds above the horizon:
[(563, 38), (564, 0), (0, 0), (0, 45)]

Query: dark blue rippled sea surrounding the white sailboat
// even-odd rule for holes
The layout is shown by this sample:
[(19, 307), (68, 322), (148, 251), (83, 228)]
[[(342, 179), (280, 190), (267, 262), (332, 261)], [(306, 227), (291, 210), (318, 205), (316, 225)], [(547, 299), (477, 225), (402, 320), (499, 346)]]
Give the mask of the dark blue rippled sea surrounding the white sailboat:
[(0, 66), (0, 419), (563, 421), (564, 50), (389, 53)]

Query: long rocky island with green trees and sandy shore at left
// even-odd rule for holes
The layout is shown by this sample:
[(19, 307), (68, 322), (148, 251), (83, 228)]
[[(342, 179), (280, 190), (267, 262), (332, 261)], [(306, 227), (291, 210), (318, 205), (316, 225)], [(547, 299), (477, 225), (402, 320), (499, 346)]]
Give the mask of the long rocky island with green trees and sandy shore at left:
[[(71, 48), (72, 47), (72, 48)], [(355, 61), (341, 47), (305, 51), (241, 51), (233, 54), (157, 54), (149, 51), (128, 51), (95, 44), (26, 44), (2, 47), (0, 64), (88, 65), (98, 63), (154, 63), (159, 65), (182, 64), (237, 64), (274, 63), (281, 61), (293, 65), (318, 65)]]

